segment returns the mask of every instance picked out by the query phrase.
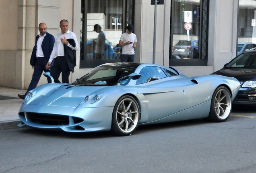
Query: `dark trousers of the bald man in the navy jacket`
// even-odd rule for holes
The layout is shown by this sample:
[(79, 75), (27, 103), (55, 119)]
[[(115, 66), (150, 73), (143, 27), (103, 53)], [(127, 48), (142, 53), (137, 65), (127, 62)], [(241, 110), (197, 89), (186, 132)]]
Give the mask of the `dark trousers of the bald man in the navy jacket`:
[[(36, 58), (32, 80), (29, 84), (29, 88), (27, 89), (27, 92), (25, 93), (25, 95), (27, 95), (27, 93), (30, 90), (33, 90), (33, 89), (35, 89), (35, 87), (37, 87), (37, 84), (40, 80), (40, 77), (41, 77), (43, 71), (50, 72), (49, 69), (48, 70), (45, 69), (44, 57)], [(47, 78), (47, 81), (48, 81), (48, 83), (51, 83), (51, 80), (49, 78)]]

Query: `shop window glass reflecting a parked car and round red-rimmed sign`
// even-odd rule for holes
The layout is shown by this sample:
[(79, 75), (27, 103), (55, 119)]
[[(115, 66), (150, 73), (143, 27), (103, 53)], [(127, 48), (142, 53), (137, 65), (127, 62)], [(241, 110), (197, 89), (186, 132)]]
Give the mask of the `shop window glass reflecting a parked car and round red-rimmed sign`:
[(172, 59), (198, 59), (200, 0), (174, 0)]

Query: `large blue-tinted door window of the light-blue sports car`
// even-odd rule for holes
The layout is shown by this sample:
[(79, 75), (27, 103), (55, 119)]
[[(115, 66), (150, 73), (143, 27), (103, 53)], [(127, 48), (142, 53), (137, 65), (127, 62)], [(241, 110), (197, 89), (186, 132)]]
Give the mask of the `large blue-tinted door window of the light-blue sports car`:
[(141, 76), (137, 79), (136, 84), (151, 82), (153, 80), (167, 77), (163, 70), (157, 66), (144, 67), (140, 70), (140, 74)]

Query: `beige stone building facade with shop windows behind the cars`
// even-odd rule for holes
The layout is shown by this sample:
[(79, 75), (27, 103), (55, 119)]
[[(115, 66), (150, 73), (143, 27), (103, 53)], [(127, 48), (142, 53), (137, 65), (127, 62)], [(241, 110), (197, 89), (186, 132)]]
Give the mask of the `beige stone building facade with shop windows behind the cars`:
[[(70, 81), (106, 62), (120, 62), (117, 44), (127, 24), (137, 36), (135, 62), (153, 63), (154, 18), (155, 63), (174, 66), (188, 76), (219, 70), (237, 55), (238, 42), (253, 42), (255, 0), (0, 0), (0, 85), (27, 89), (33, 69), (29, 64), (38, 24), (56, 36), (59, 22), (69, 21), (69, 30), (80, 38), (77, 66)], [(95, 60), (99, 24), (106, 36), (105, 54)], [(255, 36), (256, 37), (256, 36)], [(179, 42), (194, 40), (190, 54)], [(176, 51), (177, 53), (174, 53)], [(182, 55), (183, 54), (183, 55)], [(46, 83), (41, 77), (39, 84)]]

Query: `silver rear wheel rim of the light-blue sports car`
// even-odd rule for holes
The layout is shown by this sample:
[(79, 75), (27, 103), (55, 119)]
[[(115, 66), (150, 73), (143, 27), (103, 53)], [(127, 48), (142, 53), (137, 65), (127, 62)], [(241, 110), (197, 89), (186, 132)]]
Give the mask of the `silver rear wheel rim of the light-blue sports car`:
[(220, 119), (226, 119), (231, 111), (232, 101), (229, 92), (220, 89), (215, 97), (215, 113)]

